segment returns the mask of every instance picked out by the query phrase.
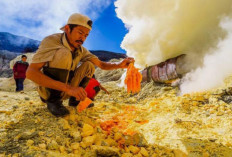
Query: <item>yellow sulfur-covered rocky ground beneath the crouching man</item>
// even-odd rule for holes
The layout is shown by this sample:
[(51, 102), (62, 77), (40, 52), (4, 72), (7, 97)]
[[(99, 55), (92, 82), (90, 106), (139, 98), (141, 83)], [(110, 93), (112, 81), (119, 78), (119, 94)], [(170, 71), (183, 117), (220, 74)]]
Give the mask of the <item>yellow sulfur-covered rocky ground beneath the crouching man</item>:
[(71, 114), (56, 118), (31, 82), (15, 93), (13, 79), (1, 79), (0, 156), (232, 156), (232, 78), (183, 96), (153, 82), (129, 95), (118, 83), (102, 83), (110, 95), (101, 91), (81, 113), (65, 101)]

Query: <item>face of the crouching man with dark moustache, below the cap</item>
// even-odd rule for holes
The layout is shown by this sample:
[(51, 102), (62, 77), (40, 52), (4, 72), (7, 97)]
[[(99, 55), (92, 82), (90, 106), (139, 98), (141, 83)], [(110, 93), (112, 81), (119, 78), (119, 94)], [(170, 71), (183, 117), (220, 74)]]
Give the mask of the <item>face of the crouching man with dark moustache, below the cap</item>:
[(65, 32), (71, 48), (79, 48), (86, 40), (90, 30), (83, 26), (76, 26), (73, 28), (72, 32), (70, 28), (67, 27)]

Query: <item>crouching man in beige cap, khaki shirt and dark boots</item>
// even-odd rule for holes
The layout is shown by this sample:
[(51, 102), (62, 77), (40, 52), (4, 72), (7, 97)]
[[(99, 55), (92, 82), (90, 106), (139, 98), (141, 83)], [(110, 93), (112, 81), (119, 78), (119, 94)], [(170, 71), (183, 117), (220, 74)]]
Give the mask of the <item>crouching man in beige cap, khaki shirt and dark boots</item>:
[[(77, 106), (87, 97), (85, 87), (92, 78), (95, 66), (104, 70), (127, 68), (134, 62), (125, 58), (120, 63), (98, 59), (82, 46), (92, 29), (89, 17), (74, 13), (57, 33), (44, 38), (27, 70), (27, 78), (39, 85), (41, 100), (55, 116), (69, 114), (63, 100), (69, 98), (70, 106)], [(81, 62), (81, 65), (78, 64)]]

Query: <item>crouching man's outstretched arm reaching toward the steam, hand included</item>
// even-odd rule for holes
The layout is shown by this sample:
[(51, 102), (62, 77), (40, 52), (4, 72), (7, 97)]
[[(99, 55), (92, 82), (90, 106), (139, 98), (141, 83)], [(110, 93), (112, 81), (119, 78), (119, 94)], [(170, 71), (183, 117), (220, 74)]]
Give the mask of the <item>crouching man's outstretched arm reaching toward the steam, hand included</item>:
[(128, 57), (119, 63), (103, 62), (99, 60), (98, 58), (92, 58), (90, 59), (90, 61), (94, 65), (98, 66), (99, 68), (103, 70), (113, 70), (113, 69), (119, 69), (119, 68), (127, 68), (130, 63), (134, 62), (134, 58)]

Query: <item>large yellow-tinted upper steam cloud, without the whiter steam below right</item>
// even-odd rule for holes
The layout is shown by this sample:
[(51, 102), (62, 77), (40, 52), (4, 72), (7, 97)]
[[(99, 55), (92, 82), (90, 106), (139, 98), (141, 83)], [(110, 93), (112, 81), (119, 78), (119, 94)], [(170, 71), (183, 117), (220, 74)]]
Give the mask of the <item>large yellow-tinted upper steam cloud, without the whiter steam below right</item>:
[(201, 63), (225, 37), (220, 21), (232, 11), (231, 0), (118, 0), (115, 6), (129, 28), (121, 46), (141, 66), (182, 53)]

